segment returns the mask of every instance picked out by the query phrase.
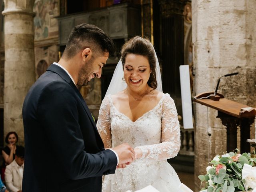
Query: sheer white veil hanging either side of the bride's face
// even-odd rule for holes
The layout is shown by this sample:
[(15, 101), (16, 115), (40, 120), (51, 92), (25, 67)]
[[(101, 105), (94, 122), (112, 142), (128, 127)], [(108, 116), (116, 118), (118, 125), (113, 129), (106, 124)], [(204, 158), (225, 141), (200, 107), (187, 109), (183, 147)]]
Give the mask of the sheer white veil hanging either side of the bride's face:
[[(154, 49), (153, 45), (152, 45), (152, 47)], [(160, 92), (163, 92), (160, 66), (159, 66), (158, 58), (156, 56), (155, 49), (154, 49), (154, 53), (155, 53), (155, 57), (156, 57), (156, 68), (155, 68), (155, 70), (156, 70), (156, 82), (157, 82), (156, 90), (158, 90)], [(109, 94), (114, 95), (114, 94), (126, 89), (127, 84), (123, 80), (123, 77), (124, 77), (124, 70), (123, 70), (122, 61), (120, 59), (117, 66), (116, 66), (114, 74), (112, 76), (111, 82), (108, 86), (108, 90), (105, 94), (105, 97), (108, 96)]]

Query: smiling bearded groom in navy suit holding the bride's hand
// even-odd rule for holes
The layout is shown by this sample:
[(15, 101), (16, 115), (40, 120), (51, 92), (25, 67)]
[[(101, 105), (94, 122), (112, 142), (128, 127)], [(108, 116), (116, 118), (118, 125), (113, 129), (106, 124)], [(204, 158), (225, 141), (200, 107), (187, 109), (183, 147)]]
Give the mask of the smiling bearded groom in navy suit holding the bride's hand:
[(128, 144), (105, 150), (76, 84), (100, 78), (113, 41), (98, 27), (76, 26), (63, 56), (30, 88), (23, 104), (25, 135), (22, 191), (100, 192), (102, 175), (130, 163)]

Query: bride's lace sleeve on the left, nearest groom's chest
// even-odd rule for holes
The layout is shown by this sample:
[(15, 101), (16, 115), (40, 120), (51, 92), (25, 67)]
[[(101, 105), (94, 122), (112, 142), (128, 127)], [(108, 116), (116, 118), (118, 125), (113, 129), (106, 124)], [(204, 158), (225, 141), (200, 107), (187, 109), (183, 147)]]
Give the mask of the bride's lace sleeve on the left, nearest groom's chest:
[(104, 98), (104, 100), (102, 101), (100, 106), (100, 111), (99, 111), (99, 118), (96, 125), (105, 148), (112, 147), (109, 100), (110, 100), (110, 95)]

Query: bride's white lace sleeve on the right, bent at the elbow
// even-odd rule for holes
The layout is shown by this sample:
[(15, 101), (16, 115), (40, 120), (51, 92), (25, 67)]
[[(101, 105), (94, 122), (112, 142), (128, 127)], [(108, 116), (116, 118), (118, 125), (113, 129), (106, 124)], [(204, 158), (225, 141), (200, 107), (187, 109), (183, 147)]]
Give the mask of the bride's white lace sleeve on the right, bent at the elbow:
[(138, 146), (142, 150), (142, 158), (166, 160), (173, 158), (180, 150), (180, 124), (174, 100), (168, 95), (162, 105), (161, 143)]

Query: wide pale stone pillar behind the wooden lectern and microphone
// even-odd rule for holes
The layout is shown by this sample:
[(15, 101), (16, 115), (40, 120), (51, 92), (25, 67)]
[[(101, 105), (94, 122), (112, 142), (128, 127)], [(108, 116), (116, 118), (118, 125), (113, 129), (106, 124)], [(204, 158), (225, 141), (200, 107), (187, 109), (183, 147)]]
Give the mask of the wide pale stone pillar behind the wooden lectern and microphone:
[[(218, 92), (255, 107), (256, 1), (193, 0), (192, 18), (194, 94), (214, 91), (220, 76), (239, 72), (222, 78)], [(198, 175), (206, 174), (208, 162), (226, 151), (226, 129), (216, 110), (195, 104), (194, 112), (195, 191), (199, 191)]]

